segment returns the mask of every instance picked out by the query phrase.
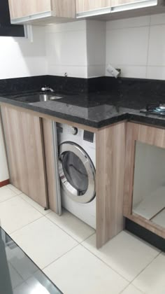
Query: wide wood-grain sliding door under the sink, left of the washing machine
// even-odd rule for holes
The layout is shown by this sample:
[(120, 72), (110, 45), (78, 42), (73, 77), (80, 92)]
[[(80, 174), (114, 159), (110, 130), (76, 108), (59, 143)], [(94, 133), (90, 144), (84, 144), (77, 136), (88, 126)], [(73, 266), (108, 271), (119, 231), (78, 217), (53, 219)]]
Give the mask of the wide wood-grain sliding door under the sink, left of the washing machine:
[(10, 183), (48, 207), (41, 118), (2, 106)]

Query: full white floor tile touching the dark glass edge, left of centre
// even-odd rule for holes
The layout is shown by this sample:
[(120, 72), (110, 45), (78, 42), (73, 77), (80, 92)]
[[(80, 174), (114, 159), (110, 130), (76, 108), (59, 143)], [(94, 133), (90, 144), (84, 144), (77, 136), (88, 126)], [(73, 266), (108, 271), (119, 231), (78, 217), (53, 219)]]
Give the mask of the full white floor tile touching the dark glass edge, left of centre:
[(41, 269), (78, 244), (44, 216), (11, 237)]

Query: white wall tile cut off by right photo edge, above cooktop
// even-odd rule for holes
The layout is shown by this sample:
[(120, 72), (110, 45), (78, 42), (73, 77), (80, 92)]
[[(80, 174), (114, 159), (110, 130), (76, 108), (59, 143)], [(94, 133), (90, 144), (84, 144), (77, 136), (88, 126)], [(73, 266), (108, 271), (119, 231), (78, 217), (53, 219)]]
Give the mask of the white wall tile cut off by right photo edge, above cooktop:
[(165, 66), (165, 25), (150, 27), (148, 65)]

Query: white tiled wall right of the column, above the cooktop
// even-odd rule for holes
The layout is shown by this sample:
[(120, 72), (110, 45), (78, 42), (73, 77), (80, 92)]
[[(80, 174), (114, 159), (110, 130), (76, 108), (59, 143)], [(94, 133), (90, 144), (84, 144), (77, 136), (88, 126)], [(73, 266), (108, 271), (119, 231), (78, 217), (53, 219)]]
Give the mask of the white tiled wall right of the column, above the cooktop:
[(106, 66), (109, 63), (122, 69), (124, 77), (164, 80), (165, 14), (107, 22)]

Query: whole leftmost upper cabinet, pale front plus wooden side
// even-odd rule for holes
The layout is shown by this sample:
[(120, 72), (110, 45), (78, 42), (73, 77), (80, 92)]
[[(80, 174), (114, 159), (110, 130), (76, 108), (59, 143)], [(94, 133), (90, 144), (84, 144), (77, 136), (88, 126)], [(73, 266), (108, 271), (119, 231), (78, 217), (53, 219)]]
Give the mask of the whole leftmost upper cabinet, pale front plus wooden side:
[(75, 0), (9, 0), (9, 9), (13, 24), (76, 18)]

